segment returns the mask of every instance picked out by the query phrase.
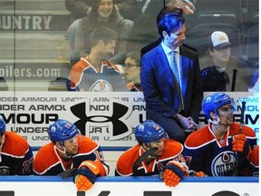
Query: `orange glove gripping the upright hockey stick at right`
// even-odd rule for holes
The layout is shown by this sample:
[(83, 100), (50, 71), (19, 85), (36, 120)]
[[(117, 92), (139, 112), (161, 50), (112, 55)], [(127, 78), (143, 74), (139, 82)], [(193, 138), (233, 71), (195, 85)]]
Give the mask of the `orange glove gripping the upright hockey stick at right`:
[(247, 137), (244, 134), (235, 134), (232, 141), (232, 151), (242, 152), (244, 156), (248, 156), (251, 152), (250, 146), (247, 142)]

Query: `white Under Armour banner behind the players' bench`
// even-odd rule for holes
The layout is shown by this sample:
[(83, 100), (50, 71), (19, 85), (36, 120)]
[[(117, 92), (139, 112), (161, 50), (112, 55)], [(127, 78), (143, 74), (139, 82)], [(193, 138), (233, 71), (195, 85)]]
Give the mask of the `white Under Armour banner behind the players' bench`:
[[(258, 94), (228, 94), (237, 103), (235, 122), (240, 122), (241, 103), (247, 102), (244, 122), (259, 137)], [(46, 131), (58, 118), (75, 123), (101, 146), (131, 147), (136, 144), (135, 126), (146, 120), (146, 107), (143, 93), (5, 92), (0, 96), (0, 114), (6, 130), (23, 135), (32, 147), (49, 142)], [(207, 124), (201, 113), (198, 128)]]

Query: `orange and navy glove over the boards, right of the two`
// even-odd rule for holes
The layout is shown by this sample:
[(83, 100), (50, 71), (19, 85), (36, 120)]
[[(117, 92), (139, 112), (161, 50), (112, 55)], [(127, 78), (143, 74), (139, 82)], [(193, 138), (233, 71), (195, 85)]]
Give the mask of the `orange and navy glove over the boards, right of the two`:
[(184, 162), (168, 162), (163, 171), (160, 172), (160, 179), (169, 187), (177, 186), (185, 176), (189, 176), (189, 169)]

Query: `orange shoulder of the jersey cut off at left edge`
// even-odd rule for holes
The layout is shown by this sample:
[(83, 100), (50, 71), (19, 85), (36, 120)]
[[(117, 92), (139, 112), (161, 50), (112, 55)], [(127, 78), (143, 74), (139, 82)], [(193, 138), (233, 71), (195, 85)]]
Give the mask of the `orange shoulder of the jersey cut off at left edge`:
[(14, 156), (24, 156), (29, 149), (28, 142), (15, 132), (5, 132), (5, 152)]

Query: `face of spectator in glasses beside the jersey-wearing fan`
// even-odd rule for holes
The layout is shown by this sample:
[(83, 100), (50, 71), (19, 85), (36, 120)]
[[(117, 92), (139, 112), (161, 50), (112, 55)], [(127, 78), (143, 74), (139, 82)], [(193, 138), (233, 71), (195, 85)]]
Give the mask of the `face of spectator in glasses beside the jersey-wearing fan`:
[(136, 63), (135, 59), (130, 57), (126, 58), (123, 65), (125, 77), (128, 81), (136, 81), (136, 78), (140, 76), (140, 66)]

